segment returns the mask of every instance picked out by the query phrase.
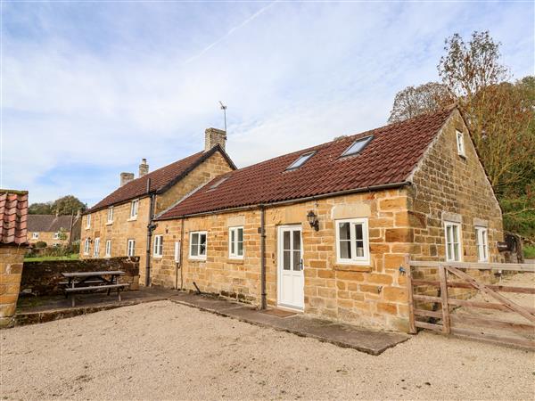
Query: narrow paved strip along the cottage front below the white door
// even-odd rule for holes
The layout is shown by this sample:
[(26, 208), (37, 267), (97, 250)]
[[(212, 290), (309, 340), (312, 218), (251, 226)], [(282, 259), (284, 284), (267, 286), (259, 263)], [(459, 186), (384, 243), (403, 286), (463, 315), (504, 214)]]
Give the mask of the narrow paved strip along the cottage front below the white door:
[(379, 355), (385, 349), (394, 347), (409, 338), (406, 334), (371, 331), (350, 324), (314, 319), (302, 314), (267, 314), (225, 299), (215, 299), (185, 292), (178, 292), (169, 300), (243, 322), (279, 331), (288, 331), (303, 337), (312, 337), (340, 347), (355, 348), (371, 355)]

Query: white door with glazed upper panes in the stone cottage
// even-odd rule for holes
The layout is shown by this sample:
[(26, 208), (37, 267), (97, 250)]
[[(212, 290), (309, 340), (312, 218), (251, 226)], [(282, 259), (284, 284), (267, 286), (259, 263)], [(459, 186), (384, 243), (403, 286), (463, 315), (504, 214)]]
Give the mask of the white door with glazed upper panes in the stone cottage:
[(278, 304), (303, 310), (305, 277), (300, 225), (278, 228)]

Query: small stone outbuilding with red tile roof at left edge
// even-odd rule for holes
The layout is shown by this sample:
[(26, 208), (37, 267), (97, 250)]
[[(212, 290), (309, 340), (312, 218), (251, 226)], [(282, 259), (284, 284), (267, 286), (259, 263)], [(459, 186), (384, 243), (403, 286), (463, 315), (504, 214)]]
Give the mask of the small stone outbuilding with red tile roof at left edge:
[(27, 250), (28, 192), (0, 189), (0, 328), (12, 324)]

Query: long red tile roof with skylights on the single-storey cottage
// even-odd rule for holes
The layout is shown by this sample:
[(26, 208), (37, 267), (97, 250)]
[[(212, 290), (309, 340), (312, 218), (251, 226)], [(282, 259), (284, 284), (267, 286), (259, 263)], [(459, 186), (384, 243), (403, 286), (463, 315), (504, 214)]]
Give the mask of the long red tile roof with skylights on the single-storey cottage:
[[(408, 119), (232, 171), (217, 188), (210, 186), (223, 176), (157, 219), (404, 183), (451, 112), (442, 110)], [(373, 139), (360, 153), (341, 157), (356, 139), (369, 135)], [(316, 153), (304, 165), (286, 170), (300, 155), (310, 151)]]

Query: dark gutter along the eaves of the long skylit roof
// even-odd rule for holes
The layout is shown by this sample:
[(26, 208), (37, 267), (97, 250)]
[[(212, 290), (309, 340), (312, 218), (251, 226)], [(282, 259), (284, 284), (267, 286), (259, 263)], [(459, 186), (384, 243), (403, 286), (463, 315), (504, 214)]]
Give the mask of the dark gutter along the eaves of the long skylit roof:
[(159, 217), (159, 218), (157, 218), (157, 220), (164, 221), (164, 220), (176, 220), (176, 219), (184, 218), (184, 217), (197, 217), (197, 216), (217, 215), (219, 213), (230, 213), (230, 212), (241, 211), (241, 210), (252, 210), (252, 209), (259, 209), (261, 207), (263, 207), (263, 208), (267, 208), (267, 207), (272, 208), (272, 207), (279, 206), (279, 205), (290, 205), (290, 204), (294, 204), (294, 203), (303, 203), (303, 202), (307, 202), (307, 201), (317, 201), (317, 200), (320, 200), (320, 199), (331, 198), (333, 196), (349, 195), (351, 193), (374, 192), (374, 191), (381, 191), (381, 190), (386, 190), (386, 189), (401, 188), (403, 186), (407, 186), (407, 185), (410, 185), (410, 184), (412, 184), (412, 183), (409, 182), (409, 181), (401, 181), (399, 183), (392, 183), (392, 184), (372, 185), (372, 186), (365, 186), (365, 187), (362, 187), (362, 188), (356, 188), (356, 189), (351, 189), (351, 190), (344, 190), (344, 191), (338, 191), (338, 192), (328, 192), (328, 193), (323, 193), (323, 194), (320, 194), (320, 195), (307, 196), (305, 198), (297, 198), (297, 199), (292, 199), (292, 200), (287, 200), (287, 201), (276, 201), (276, 202), (272, 202), (272, 203), (268, 203), (268, 204), (255, 203), (255, 204), (248, 205), (248, 206), (238, 206), (238, 207), (235, 207), (235, 208), (210, 210), (210, 211), (206, 211), (206, 212), (192, 213), (190, 215), (182, 215), (182, 216), (166, 217), (166, 218)]

